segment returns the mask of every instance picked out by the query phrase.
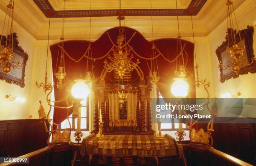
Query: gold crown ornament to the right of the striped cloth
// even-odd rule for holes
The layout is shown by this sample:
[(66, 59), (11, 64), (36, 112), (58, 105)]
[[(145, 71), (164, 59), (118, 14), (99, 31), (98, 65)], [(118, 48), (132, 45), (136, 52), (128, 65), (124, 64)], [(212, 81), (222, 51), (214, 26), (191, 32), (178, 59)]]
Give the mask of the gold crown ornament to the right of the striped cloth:
[(209, 144), (210, 134), (205, 132), (204, 129), (200, 128), (198, 132), (196, 132), (195, 128), (192, 128), (190, 133), (190, 141), (192, 143), (201, 143), (201, 144)]

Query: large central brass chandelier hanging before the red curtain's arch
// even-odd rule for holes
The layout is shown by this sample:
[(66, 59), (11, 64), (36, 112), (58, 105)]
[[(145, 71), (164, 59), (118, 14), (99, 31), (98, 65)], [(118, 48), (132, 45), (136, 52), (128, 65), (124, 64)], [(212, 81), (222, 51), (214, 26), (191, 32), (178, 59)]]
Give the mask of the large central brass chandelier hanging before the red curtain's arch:
[(108, 59), (110, 59), (111, 62), (105, 60), (104, 67), (108, 72), (113, 70), (117, 72), (120, 79), (123, 79), (125, 73), (132, 72), (134, 69), (136, 69), (138, 63), (140, 63), (138, 59), (136, 62), (131, 61), (131, 59), (133, 59), (133, 55), (130, 54), (132, 49), (128, 49), (125, 45), (123, 45), (125, 36), (123, 31), (121, 31), (121, 20), (124, 18), (124, 16), (121, 16), (121, 3), (119, 0), (119, 30), (117, 38), (118, 45), (116, 46), (116, 49), (113, 49), (113, 56), (108, 56)]

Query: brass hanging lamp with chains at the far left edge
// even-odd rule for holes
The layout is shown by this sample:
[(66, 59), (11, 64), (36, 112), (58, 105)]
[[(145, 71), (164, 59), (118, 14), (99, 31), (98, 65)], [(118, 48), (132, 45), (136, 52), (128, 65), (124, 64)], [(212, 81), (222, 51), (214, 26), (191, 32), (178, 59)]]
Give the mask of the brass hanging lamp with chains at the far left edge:
[[(23, 66), (23, 62), (12, 61), (13, 59), (13, 10), (14, 10), (14, 0), (13, 1), (10, 0), (9, 4), (7, 5), (5, 20), (3, 23), (3, 31), (0, 39), (0, 67), (3, 68), (2, 70), (5, 75), (7, 75), (7, 73), (10, 72), (11, 67), (15, 69)], [(5, 23), (7, 23), (7, 35), (6, 35), (5, 41), (3, 41)], [(3, 42), (3, 45), (2, 45), (2, 42)]]

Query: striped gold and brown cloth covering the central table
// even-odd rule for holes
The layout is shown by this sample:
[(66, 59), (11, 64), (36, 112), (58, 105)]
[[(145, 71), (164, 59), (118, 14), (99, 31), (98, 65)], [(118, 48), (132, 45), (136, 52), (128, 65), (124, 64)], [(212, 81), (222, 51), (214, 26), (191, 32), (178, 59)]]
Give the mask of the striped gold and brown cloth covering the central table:
[(154, 135), (104, 135), (91, 134), (80, 145), (81, 156), (174, 156), (182, 154), (182, 146), (166, 134), (162, 138)]

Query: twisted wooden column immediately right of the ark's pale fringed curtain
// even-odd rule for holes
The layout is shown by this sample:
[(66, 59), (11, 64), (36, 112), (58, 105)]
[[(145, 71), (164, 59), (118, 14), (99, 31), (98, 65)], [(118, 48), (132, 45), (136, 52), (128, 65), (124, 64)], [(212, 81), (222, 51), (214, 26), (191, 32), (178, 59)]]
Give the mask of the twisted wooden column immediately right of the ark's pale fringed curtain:
[(146, 133), (146, 86), (140, 86), (141, 88), (141, 133)]

